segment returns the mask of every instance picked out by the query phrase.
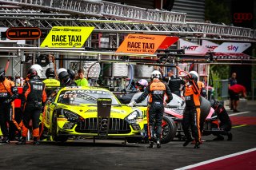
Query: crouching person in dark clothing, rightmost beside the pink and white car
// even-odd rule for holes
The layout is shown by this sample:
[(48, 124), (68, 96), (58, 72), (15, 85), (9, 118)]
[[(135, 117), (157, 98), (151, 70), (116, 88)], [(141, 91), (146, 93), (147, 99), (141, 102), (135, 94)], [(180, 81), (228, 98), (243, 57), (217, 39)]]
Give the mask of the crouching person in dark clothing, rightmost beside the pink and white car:
[(210, 100), (210, 105), (214, 109), (214, 113), (217, 113), (218, 120), (220, 121), (219, 128), (222, 130), (221, 134), (213, 133), (217, 136), (214, 140), (224, 140), (222, 135), (227, 136), (227, 140), (232, 140), (233, 135), (230, 132), (232, 123), (229, 115), (226, 113), (226, 109), (220, 102), (215, 100)]

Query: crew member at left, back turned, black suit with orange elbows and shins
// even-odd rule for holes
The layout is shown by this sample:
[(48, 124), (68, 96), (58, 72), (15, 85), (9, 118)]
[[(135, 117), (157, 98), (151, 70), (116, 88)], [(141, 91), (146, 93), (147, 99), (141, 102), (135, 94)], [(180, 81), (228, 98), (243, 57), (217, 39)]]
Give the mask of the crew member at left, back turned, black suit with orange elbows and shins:
[(29, 80), (25, 82), (22, 93), (22, 140), (17, 144), (26, 144), (26, 136), (32, 119), (34, 145), (38, 145), (39, 117), (46, 103), (46, 85), (38, 79), (35, 69), (29, 69), (27, 77)]

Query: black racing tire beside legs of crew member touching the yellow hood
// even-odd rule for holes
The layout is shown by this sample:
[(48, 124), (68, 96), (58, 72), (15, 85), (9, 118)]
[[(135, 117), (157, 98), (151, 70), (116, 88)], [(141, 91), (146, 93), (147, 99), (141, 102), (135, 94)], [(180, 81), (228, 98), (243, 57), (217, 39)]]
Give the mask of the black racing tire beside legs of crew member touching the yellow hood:
[(177, 132), (177, 126), (172, 120), (172, 118), (168, 116), (164, 116), (162, 120), (162, 138), (161, 143), (166, 144), (174, 139)]

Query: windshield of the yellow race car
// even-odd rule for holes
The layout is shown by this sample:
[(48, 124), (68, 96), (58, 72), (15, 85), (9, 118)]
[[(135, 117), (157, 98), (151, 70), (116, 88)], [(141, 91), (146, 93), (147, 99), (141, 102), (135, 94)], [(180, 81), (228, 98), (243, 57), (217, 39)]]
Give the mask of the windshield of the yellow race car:
[(64, 90), (59, 94), (58, 103), (65, 105), (97, 105), (98, 98), (110, 98), (112, 100), (112, 104), (118, 105), (118, 101), (112, 93), (91, 89)]

